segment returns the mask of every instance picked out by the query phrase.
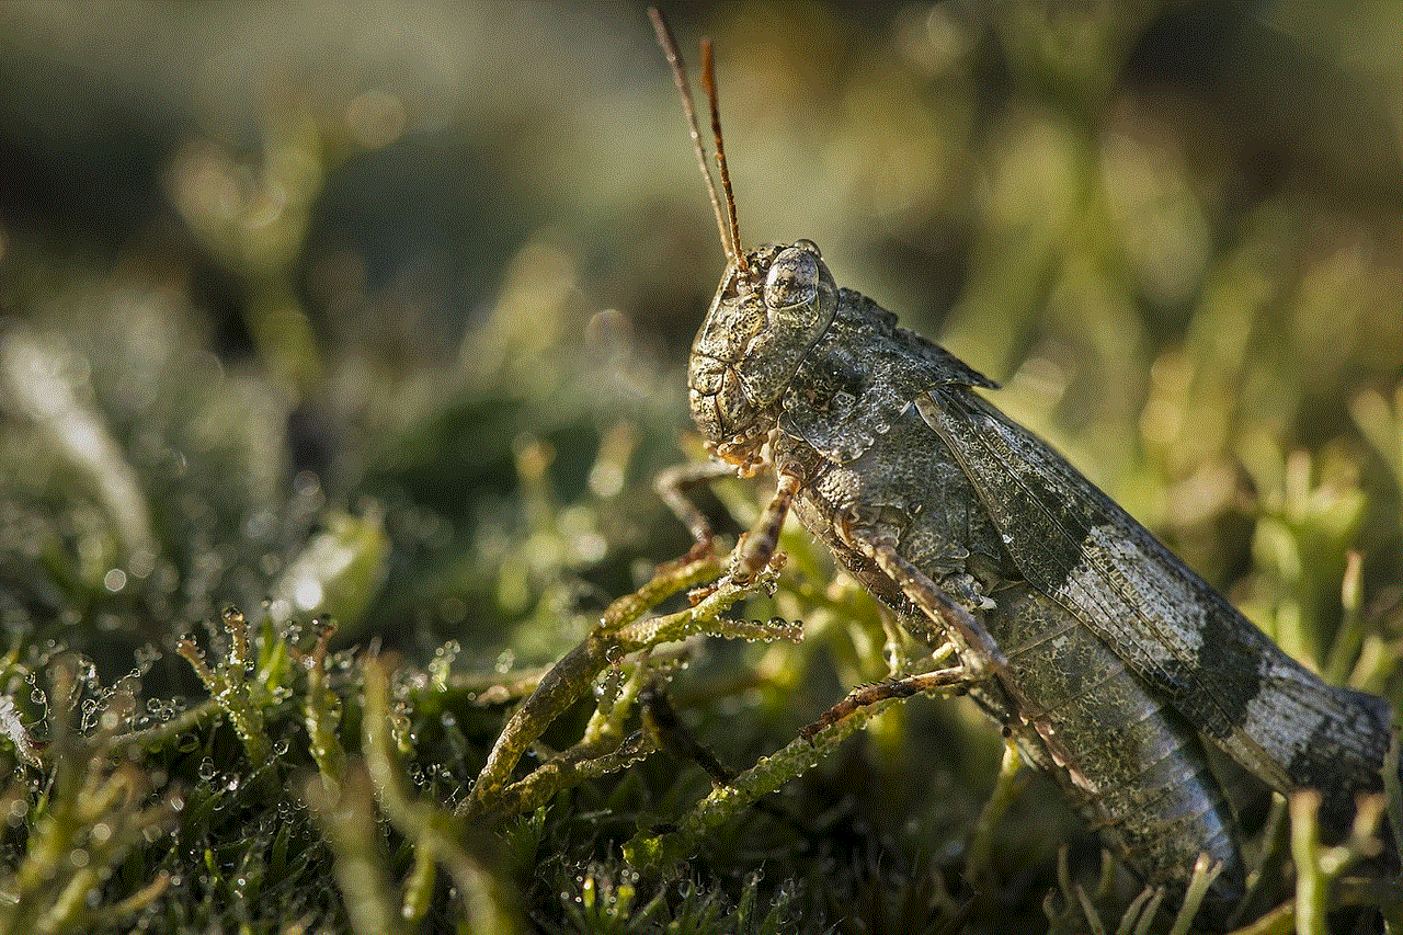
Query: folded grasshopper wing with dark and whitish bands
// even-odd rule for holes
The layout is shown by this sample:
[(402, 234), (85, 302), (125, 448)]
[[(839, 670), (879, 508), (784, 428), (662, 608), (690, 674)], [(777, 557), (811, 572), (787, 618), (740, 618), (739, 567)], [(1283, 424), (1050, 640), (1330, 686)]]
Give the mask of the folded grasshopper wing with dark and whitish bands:
[[(1023, 577), (1167, 705), (1278, 790), (1327, 814), (1382, 788), (1392, 712), (1322, 682), (1047, 444), (967, 386), (915, 402), (978, 490)], [(1338, 818), (1336, 818), (1338, 820)]]

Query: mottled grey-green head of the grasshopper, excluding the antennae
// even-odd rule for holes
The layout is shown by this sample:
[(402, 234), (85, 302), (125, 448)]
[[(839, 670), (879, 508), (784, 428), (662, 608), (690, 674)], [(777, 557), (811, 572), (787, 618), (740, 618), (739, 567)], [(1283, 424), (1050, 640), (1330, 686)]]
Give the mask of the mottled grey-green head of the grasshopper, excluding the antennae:
[(732, 263), (692, 344), (687, 400), (717, 455), (744, 463), (774, 424), (773, 407), (838, 310), (818, 246), (762, 246)]

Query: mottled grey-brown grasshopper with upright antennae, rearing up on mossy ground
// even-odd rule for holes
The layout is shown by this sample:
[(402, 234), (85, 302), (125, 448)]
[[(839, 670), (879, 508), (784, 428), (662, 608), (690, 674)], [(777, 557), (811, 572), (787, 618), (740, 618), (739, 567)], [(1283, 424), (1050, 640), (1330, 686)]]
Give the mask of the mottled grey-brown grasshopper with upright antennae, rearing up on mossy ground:
[(793, 510), (913, 635), (954, 647), (954, 681), (1149, 884), (1181, 896), (1207, 855), (1221, 866), (1208, 904), (1223, 913), (1242, 893), (1209, 747), (1278, 792), (1319, 790), (1323, 818), (1343, 827), (1357, 796), (1383, 788), (1389, 703), (1287, 656), (976, 392), (992, 380), (839, 288), (817, 244), (742, 248), (710, 44), (721, 194), (676, 44), (651, 15), (728, 258), (687, 368), (716, 460), (658, 483), (697, 542), (711, 529), (690, 486), (772, 472), (732, 578), (766, 567)]

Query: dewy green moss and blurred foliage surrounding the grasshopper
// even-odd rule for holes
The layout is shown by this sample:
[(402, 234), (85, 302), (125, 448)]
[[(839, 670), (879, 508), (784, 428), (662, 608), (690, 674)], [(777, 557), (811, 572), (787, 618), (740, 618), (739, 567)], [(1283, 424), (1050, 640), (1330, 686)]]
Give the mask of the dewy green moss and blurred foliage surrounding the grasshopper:
[[(1289, 651), (1397, 702), (1397, 20), (673, 28), (716, 39), (748, 243), (818, 241)], [(679, 622), (666, 566), (645, 587), (687, 548), (651, 480), (699, 456), (723, 258), (640, 7), (7, 4), (0, 117), (0, 929), (1120, 924), (1138, 887), (972, 706), (760, 760), (906, 651), (803, 531), (773, 594), (732, 595), (755, 626)], [(763, 489), (720, 496), (745, 521)], [(506, 764), (543, 764), (533, 807), (478, 820), (504, 723), (610, 605), (633, 654)], [(652, 647), (654, 614), (805, 639)], [(655, 674), (724, 764), (793, 776), (672, 876), (626, 842), (714, 793), (636, 734)], [(1246, 817), (1254, 911), (1282, 904), (1258, 931), (1287, 931), (1320, 908), (1287, 903), (1287, 806)], [(1357, 856), (1298, 838), (1310, 879)], [(1399, 924), (1386, 887), (1337, 896)]]

